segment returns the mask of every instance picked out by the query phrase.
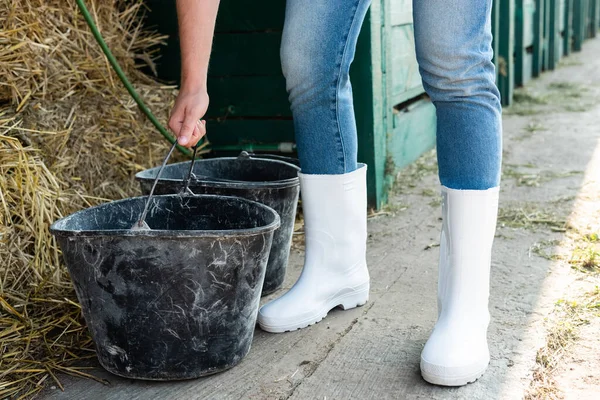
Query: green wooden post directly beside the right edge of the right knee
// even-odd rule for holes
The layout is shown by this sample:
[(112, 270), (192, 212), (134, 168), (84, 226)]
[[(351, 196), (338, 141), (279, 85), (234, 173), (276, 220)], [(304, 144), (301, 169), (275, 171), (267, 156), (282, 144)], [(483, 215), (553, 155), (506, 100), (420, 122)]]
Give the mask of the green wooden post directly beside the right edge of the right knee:
[(498, 89), (502, 105), (510, 105), (515, 87), (515, 0), (499, 0)]

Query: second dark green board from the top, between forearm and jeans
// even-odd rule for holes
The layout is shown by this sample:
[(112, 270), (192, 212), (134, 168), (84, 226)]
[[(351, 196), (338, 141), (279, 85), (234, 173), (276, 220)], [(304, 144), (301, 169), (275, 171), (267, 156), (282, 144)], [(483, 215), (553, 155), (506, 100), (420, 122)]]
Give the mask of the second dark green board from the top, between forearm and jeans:
[(281, 33), (219, 33), (213, 40), (209, 74), (281, 75)]

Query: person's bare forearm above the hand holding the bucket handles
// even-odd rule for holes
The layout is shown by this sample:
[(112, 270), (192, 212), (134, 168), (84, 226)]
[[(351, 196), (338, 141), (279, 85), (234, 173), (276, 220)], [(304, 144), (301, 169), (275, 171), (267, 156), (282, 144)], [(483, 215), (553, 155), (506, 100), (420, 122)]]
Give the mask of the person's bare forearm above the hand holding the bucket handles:
[(206, 88), (219, 0), (177, 0), (181, 46), (181, 89)]

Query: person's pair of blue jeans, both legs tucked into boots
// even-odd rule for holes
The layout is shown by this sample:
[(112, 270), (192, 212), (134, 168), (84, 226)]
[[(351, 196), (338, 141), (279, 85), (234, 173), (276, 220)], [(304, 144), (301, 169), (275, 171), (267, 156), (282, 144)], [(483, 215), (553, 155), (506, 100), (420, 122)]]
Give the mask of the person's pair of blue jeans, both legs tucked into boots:
[[(415, 44), (423, 86), (437, 112), (442, 185), (498, 186), (500, 94), (492, 64), (491, 0), (414, 0)], [(281, 65), (304, 173), (357, 167), (349, 79), (370, 0), (287, 0)]]

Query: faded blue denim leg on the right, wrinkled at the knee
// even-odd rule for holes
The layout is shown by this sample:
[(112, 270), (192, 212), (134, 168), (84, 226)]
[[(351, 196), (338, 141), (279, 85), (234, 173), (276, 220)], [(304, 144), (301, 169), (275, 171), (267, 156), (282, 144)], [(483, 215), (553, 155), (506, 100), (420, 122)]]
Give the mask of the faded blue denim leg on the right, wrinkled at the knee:
[(500, 183), (500, 94), (492, 64), (492, 0), (414, 0), (423, 86), (437, 112), (442, 185), (485, 190)]

